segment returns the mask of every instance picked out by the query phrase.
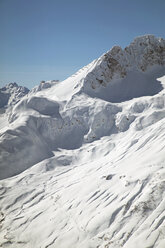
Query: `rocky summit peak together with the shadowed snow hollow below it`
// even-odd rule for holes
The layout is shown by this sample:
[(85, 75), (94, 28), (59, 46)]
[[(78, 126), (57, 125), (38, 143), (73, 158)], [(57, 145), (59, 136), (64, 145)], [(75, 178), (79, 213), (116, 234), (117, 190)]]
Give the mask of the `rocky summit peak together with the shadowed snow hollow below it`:
[[(156, 67), (154, 74), (159, 71), (159, 76), (164, 75), (164, 66), (165, 40), (156, 38), (153, 35), (137, 37), (124, 50), (119, 46), (114, 46), (109, 52), (101, 56), (96, 61), (95, 67), (83, 78), (82, 91), (91, 96), (101, 98), (104, 96), (104, 99), (106, 98), (106, 100), (113, 102), (139, 97), (147, 94), (147, 92), (133, 92), (134, 90), (132, 89), (136, 87), (135, 84), (138, 84), (138, 82), (132, 81), (144, 82), (151, 80), (150, 85), (145, 87), (149, 88), (151, 86), (152, 88), (153, 78), (148, 78), (147, 72), (150, 75), (152, 70), (154, 71), (154, 67)], [(124, 80), (127, 77), (128, 80)], [(124, 87), (122, 87), (123, 85)], [(154, 89), (148, 89), (148, 95), (158, 93), (161, 89), (161, 86), (159, 86), (153, 86)], [(121, 93), (125, 87), (130, 89), (130, 92), (125, 97), (122, 97), (118, 93)], [(108, 96), (106, 96), (107, 91)]]

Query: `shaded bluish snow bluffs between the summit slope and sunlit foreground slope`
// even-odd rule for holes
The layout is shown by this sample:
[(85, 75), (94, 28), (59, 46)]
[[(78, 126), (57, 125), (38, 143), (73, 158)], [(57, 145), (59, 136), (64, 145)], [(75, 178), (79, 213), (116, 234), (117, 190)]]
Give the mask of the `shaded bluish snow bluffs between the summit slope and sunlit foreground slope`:
[(36, 96), (22, 99), (13, 108), (11, 129), (0, 137), (1, 179), (52, 156), (59, 148), (76, 149), (117, 132), (115, 115), (120, 107), (83, 96), (80, 103), (75, 97), (59, 108), (56, 101)]

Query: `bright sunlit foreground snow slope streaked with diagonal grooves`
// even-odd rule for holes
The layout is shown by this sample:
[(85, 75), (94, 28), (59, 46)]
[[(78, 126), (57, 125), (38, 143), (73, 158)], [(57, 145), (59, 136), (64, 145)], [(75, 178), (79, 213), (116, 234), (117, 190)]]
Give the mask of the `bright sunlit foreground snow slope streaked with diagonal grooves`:
[(163, 248), (164, 131), (59, 150), (2, 180), (2, 247)]

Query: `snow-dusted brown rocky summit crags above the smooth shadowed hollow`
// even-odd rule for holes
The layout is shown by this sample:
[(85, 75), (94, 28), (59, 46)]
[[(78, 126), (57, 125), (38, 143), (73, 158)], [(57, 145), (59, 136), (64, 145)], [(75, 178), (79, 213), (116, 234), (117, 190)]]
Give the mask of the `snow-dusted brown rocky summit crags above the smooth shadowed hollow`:
[(165, 40), (153, 35), (137, 37), (124, 50), (114, 46), (95, 62), (86, 75), (83, 88), (86, 93), (106, 87), (114, 80), (125, 78), (131, 71), (145, 72), (153, 66), (165, 65)]

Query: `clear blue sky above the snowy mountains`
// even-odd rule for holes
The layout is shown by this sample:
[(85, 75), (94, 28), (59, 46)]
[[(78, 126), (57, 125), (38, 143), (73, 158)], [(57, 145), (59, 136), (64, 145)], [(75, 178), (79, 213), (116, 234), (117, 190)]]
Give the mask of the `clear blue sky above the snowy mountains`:
[(143, 34), (165, 38), (165, 0), (0, 0), (0, 87), (63, 80)]

